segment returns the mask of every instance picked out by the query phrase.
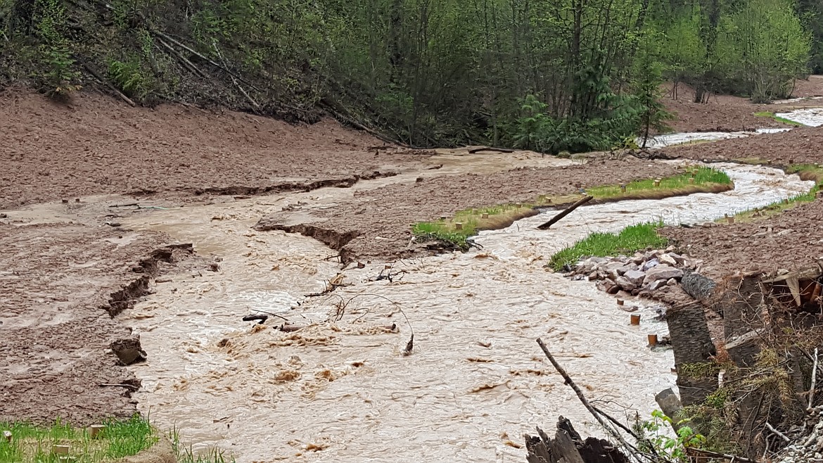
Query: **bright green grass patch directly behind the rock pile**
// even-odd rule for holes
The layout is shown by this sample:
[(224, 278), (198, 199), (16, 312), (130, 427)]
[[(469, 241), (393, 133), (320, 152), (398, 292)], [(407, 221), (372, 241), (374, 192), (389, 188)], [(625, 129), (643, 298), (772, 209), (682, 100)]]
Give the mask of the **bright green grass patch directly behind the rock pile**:
[(555, 270), (563, 269), (565, 264), (576, 264), (584, 257), (597, 255), (631, 254), (647, 248), (666, 246), (668, 240), (658, 236), (658, 228), (663, 227), (663, 221), (644, 222), (625, 227), (620, 233), (592, 233), (585, 239), (574, 243), (574, 246), (560, 250), (551, 256), (548, 266)]

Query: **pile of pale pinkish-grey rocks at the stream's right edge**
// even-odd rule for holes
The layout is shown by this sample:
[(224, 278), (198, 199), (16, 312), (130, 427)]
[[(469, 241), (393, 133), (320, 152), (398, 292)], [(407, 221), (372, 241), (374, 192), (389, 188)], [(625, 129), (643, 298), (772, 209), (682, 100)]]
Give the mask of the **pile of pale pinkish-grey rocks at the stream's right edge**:
[(636, 296), (641, 291), (654, 291), (672, 286), (700, 262), (666, 250), (639, 251), (632, 256), (589, 257), (575, 265), (566, 276), (574, 279), (597, 280), (597, 288), (609, 294), (625, 291)]

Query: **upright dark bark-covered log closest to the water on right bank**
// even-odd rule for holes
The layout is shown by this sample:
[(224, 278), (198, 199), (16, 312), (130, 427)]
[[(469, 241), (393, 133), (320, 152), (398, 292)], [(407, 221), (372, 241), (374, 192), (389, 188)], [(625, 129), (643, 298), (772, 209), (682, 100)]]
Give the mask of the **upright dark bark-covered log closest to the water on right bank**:
[(701, 404), (718, 388), (711, 358), (717, 353), (703, 306), (694, 302), (666, 313), (677, 368), (677, 388), (684, 406)]

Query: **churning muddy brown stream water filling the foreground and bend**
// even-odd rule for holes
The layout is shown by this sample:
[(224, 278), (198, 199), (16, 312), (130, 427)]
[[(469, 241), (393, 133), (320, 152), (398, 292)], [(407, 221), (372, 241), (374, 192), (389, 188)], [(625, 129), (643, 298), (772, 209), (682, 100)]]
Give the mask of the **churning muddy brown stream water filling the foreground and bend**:
[[(544, 269), (549, 257), (591, 232), (635, 222), (699, 222), (807, 191), (796, 175), (721, 165), (736, 188), (579, 208), (548, 231), (551, 213), (481, 232), (482, 250), (347, 269), (313, 239), (251, 226), (286, 203), (333, 207), (343, 189), (259, 197), (133, 217), (222, 259), (218, 273), (172, 275), (124, 323), (142, 336), (148, 362), (134, 367), (142, 412), (175, 426), (194, 448), (219, 447), (239, 462), (523, 461), (523, 433), (558, 415), (599, 434), (542, 356), (542, 337), (586, 395), (621, 417), (648, 416), (674, 386), (671, 351), (655, 306), (639, 327), (593, 283)], [(379, 236), (374, 236), (379, 240)], [(393, 281), (374, 281), (380, 272)], [(397, 273), (397, 274), (395, 274)], [(266, 311), (266, 325), (242, 316)], [(405, 315), (404, 315), (405, 314)], [(278, 316), (294, 325), (281, 332)], [(397, 330), (391, 330), (395, 324)], [(411, 326), (410, 326), (411, 325)], [(412, 354), (402, 349), (414, 330)]]

